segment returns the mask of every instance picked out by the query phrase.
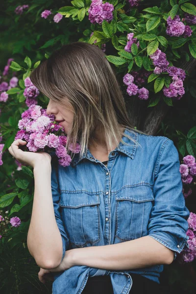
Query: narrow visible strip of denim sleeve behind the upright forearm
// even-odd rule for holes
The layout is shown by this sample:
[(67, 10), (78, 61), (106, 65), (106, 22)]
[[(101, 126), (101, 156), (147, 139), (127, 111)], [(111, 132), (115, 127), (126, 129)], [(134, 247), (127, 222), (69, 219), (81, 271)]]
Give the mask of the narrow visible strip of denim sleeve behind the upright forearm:
[(52, 191), (54, 215), (55, 215), (57, 226), (61, 233), (61, 238), (63, 243), (63, 248), (62, 248), (63, 255), (61, 259), (61, 262), (62, 262), (65, 256), (65, 252), (69, 247), (69, 238), (67, 236), (67, 233), (65, 232), (65, 227), (61, 219), (61, 213), (60, 213), (61, 208), (58, 205), (60, 200), (60, 191), (59, 191), (59, 185), (58, 185), (58, 166), (54, 160), (51, 161), (51, 191)]

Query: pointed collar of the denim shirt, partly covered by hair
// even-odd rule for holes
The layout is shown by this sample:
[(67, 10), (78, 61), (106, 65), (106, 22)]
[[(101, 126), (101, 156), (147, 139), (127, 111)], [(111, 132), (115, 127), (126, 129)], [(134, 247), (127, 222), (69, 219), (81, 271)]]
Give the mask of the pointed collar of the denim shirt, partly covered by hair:
[[(125, 128), (124, 130), (124, 133), (123, 134), (127, 134), (129, 135), (130, 137), (132, 137), (135, 142), (133, 142), (132, 140), (130, 140), (129, 138), (125, 137), (123, 135), (123, 141), (129, 145), (124, 145), (122, 142), (119, 143), (118, 147), (116, 147), (114, 150), (112, 150), (111, 152), (114, 152), (114, 151), (120, 151), (120, 152), (123, 152), (124, 154), (128, 155), (131, 159), (134, 159), (134, 155), (135, 155), (135, 151), (136, 151), (136, 148), (137, 148), (137, 143), (138, 143), (138, 132), (136, 131), (130, 131), (129, 129)], [(110, 153), (111, 153), (110, 152)], [(76, 166), (82, 159), (84, 158), (87, 158), (91, 161), (98, 161), (90, 152), (89, 149), (87, 149), (87, 153), (86, 154), (83, 154), (82, 158), (79, 159), (79, 153), (76, 153), (74, 155), (74, 158), (72, 159), (72, 166)]]

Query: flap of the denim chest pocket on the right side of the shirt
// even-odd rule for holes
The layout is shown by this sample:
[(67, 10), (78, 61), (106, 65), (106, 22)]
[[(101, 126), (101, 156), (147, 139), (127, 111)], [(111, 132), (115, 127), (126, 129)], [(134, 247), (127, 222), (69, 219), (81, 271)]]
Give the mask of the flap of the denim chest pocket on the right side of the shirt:
[(149, 186), (141, 185), (125, 187), (117, 195), (116, 200), (130, 200), (135, 202), (153, 201), (154, 196)]

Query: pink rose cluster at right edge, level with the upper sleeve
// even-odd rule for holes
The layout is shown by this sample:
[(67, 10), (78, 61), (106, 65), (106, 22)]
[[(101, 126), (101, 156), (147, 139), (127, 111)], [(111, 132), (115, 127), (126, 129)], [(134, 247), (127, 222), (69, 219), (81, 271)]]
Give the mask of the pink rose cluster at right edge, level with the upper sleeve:
[(196, 175), (196, 159), (193, 155), (183, 157), (183, 164), (180, 165), (180, 173), (184, 184), (191, 184)]

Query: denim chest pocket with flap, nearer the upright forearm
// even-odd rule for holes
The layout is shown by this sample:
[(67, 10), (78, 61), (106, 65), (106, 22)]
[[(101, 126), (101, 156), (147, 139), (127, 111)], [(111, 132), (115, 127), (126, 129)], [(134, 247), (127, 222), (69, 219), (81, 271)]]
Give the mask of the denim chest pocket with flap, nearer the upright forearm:
[(58, 203), (72, 245), (83, 247), (100, 241), (100, 199), (98, 194), (61, 193)]

